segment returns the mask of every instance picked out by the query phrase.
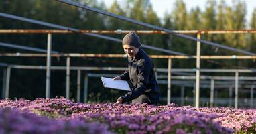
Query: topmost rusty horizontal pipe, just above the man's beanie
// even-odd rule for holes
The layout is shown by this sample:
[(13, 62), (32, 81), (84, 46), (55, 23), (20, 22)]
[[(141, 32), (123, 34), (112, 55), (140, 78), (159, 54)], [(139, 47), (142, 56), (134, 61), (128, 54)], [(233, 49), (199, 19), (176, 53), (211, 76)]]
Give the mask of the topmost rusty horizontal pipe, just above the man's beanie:
[[(131, 30), (87, 30), (81, 29), (76, 33), (93, 33), (93, 34), (127, 34)], [(159, 30), (133, 30), (137, 34), (170, 34), (166, 31)], [(254, 29), (243, 30), (172, 30), (178, 34), (248, 34), (256, 33)], [(74, 34), (74, 31), (57, 30), (57, 29), (0, 29), (0, 34)]]

